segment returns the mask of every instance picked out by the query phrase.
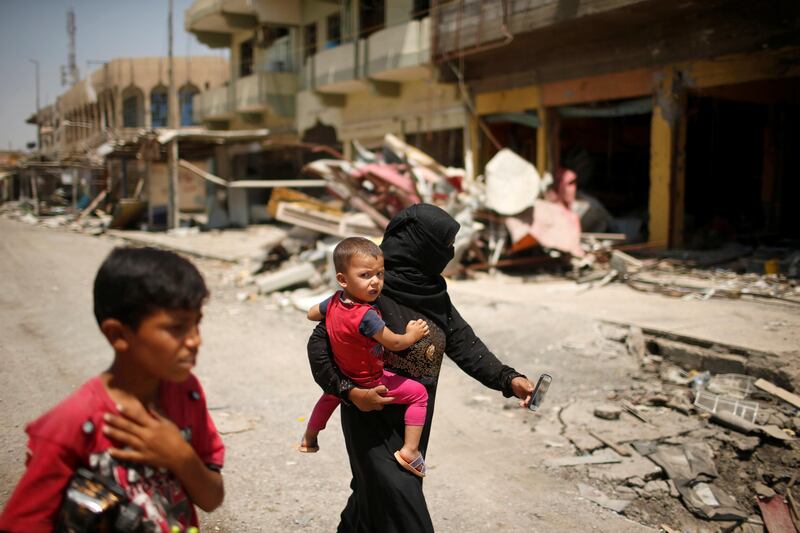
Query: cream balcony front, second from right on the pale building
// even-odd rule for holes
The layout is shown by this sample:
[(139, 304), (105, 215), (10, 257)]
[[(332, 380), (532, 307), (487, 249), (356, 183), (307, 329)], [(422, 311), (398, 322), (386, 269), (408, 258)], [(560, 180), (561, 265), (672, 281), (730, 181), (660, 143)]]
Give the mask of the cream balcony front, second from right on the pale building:
[(321, 93), (347, 94), (369, 87), (361, 78), (365, 58), (365, 40), (323, 50), (306, 62), (304, 86)]

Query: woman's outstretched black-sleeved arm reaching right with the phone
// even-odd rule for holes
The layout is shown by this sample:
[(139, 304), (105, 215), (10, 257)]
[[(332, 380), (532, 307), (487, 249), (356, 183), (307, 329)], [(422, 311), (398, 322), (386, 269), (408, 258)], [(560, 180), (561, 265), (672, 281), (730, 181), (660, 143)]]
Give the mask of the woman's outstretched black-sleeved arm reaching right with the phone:
[(501, 363), (452, 305), (450, 312), (450, 331), (445, 346), (447, 356), (486, 387), (502, 391), (507, 398), (516, 396), (529, 402), (533, 385), (528, 378)]

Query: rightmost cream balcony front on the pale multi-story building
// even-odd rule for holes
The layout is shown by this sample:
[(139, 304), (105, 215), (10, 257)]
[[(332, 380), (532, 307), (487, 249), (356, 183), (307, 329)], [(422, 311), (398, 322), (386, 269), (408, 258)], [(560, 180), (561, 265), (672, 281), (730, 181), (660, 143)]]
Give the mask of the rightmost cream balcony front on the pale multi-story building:
[(429, 76), (431, 19), (412, 20), (370, 35), (367, 68), (370, 78), (410, 81)]

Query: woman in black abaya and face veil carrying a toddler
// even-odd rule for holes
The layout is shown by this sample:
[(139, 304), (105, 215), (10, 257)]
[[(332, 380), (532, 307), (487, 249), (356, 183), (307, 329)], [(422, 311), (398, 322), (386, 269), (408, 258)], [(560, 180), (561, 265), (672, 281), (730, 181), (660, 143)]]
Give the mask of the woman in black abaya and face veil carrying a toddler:
[[(415, 379), (428, 389), (428, 414), (420, 442), (427, 458), (428, 437), (436, 403), (436, 386), (446, 353), (464, 372), (506, 397), (527, 405), (533, 385), (505, 366), (472, 331), (447, 295), (441, 272), (453, 258), (459, 225), (440, 208), (411, 206), (389, 223), (383, 249), (386, 276), (376, 304), (386, 325), (405, 331), (409, 320), (425, 319), (430, 335), (402, 352), (386, 352), (388, 370)], [(403, 445), (403, 405), (385, 405), (385, 387), (359, 389), (339, 373), (322, 321), (308, 342), (311, 371), (322, 389), (342, 399), (342, 431), (353, 480), (342, 511), (339, 532), (432, 532), (422, 493), (422, 479), (394, 458)]]

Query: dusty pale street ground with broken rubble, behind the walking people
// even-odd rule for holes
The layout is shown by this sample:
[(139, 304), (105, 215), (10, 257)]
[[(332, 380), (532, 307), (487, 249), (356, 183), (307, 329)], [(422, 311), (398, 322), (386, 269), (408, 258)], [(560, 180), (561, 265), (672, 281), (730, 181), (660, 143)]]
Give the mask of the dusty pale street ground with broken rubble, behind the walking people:
[[(80, 381), (86, 366), (102, 366), (86, 290), (109, 247), (173, 248), (200, 262), (213, 293), (199, 374), (215, 398), (212, 413), (232, 460), (226, 468), (231, 497), (207, 523), (247, 529), (255, 513), (270, 528), (333, 527), (327, 508), (342, 503), (336, 487), (347, 471), (340, 434), (325, 435), (325, 453), (313, 458), (322, 466), (293, 449), (310, 407), (305, 399), (315, 388), (305, 358), (311, 328), (298, 309), (331, 291), (329, 246), (318, 240), (324, 233), (275, 224), (209, 233), (109, 231), (98, 240), (32, 227), (9, 214), (18, 211), (0, 220), (9, 295), (3, 312), (26, 317), (16, 326), (3, 321), (9, 328), (4, 338), (18, 339), (5, 349), (11, 364), (3, 373), (12, 426), (21, 429), (37, 405)], [(770, 520), (793, 516), (800, 466), (800, 406), (789, 392), (800, 380), (796, 284), (611, 253), (593, 281), (482, 271), (451, 279), (454, 302), (498, 356), (531, 375), (550, 373), (554, 385), (546, 407), (533, 415), (487, 395), (448, 365), (443, 379), (450, 392), (438, 400), (441, 433), (430, 451), (434, 475), (426, 482), (439, 530), (518, 531), (531, 524), (534, 530), (579, 530), (591, 516), (593, 529), (601, 531), (634, 531), (637, 524), (664, 531), (763, 531)], [(58, 268), (22, 268), (40, 264), (31, 262), (39, 254), (52, 254), (41, 264)], [(608, 272), (615, 272), (613, 281)], [(659, 290), (637, 290), (641, 277), (659, 280), (650, 284)], [(52, 298), (44, 302), (34, 293)], [(45, 328), (43, 321), (52, 324)], [(17, 327), (46, 331), (32, 342), (17, 335)], [(72, 338), (76, 333), (80, 341)], [(48, 348), (54, 346), (60, 349)], [(34, 354), (44, 358), (25, 366)], [(58, 354), (57, 362), (51, 354)], [(12, 378), (52, 364), (69, 376), (53, 379), (52, 387), (34, 392), (24, 379)], [(38, 400), (21, 399), (29, 393)], [(4, 436), (11, 455), (23, 453), (21, 435)], [(20, 468), (12, 463), (4, 469), (5, 486)], [(319, 468), (330, 476), (312, 482), (303, 474), (319, 474)], [(276, 492), (275, 486), (282, 488)], [(495, 490), (508, 499), (498, 501)], [(327, 496), (309, 501), (309, 492)], [(238, 518), (243, 513), (246, 521)], [(524, 517), (526, 527), (498, 519), (509, 514)]]

